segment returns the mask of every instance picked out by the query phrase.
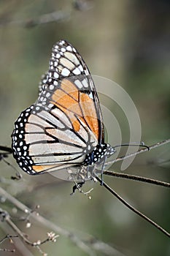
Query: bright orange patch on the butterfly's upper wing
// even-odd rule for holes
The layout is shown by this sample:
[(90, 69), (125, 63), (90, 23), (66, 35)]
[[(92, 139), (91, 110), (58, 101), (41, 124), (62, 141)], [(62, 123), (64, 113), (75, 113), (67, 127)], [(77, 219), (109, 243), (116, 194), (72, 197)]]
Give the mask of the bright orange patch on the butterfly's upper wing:
[(80, 122), (77, 120), (78, 116), (90, 128), (93, 134), (96, 135), (96, 139), (98, 140), (98, 116), (96, 106), (89, 94), (79, 91), (72, 81), (65, 78), (61, 82), (60, 89), (54, 91), (50, 102), (66, 113), (72, 121), (76, 132), (80, 131)]

